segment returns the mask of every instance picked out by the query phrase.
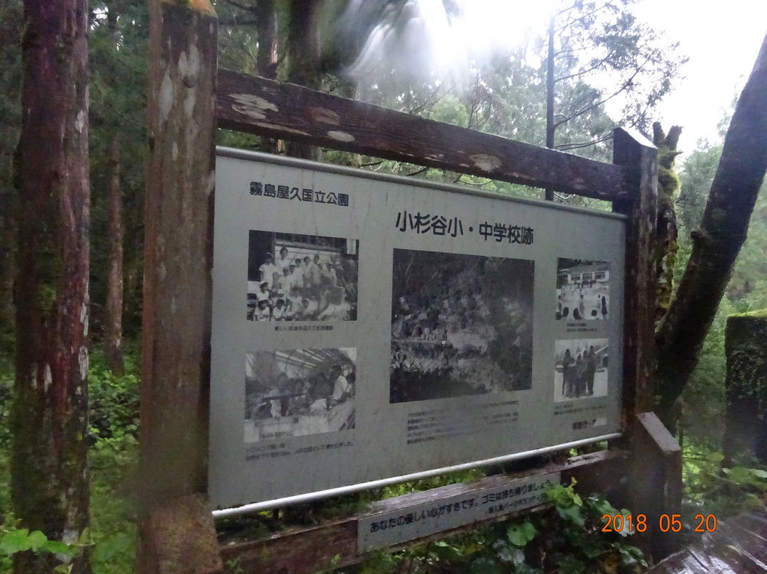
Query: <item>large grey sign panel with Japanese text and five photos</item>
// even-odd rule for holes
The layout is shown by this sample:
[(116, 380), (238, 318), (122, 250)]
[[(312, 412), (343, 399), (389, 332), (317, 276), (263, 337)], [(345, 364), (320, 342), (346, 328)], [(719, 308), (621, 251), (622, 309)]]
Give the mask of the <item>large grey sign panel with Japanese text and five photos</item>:
[(213, 506), (615, 432), (624, 225), (219, 150)]

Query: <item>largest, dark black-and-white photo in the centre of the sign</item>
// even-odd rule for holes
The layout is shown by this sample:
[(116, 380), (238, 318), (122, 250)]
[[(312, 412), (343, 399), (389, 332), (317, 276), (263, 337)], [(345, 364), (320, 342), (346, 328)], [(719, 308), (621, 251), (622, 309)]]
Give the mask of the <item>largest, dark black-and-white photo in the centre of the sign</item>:
[(532, 386), (534, 262), (394, 249), (390, 403)]

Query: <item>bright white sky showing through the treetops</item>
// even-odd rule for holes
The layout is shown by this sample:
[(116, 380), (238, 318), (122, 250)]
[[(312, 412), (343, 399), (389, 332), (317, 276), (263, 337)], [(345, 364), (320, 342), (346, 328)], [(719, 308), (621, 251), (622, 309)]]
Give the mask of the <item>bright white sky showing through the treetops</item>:
[[(350, 10), (363, 3), (351, 2)], [(533, 34), (543, 38), (549, 15), (559, 4), (557, 0), (453, 0), (450, 8), (443, 0), (407, 0), (400, 4), (401, 10), (384, 11), (381, 24), (368, 36), (349, 73), (357, 79), (396, 74), (466, 86), (472, 64), (482, 66), (492, 54), (525, 42), (532, 45)], [(639, 0), (631, 9), (640, 21), (662, 31), (665, 41), (678, 41), (680, 52), (690, 58), (681, 70), (684, 78), (674, 82), (653, 119), (666, 127), (684, 127), (682, 149), (693, 149), (700, 137), (713, 142), (767, 31), (767, 2)], [(610, 84), (607, 77), (592, 81)], [(607, 112), (617, 120), (621, 106), (621, 98), (616, 98), (608, 103)]]

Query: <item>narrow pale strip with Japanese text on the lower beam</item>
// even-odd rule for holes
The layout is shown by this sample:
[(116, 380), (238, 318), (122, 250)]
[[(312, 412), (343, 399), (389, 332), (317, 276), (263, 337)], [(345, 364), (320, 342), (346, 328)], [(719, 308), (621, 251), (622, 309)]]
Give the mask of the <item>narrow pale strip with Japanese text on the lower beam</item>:
[(374, 514), (357, 522), (357, 552), (387, 548), (545, 503), (547, 487), (560, 483), (560, 473), (526, 477), (505, 484), (449, 496), (443, 500), (418, 504), (386, 513)]

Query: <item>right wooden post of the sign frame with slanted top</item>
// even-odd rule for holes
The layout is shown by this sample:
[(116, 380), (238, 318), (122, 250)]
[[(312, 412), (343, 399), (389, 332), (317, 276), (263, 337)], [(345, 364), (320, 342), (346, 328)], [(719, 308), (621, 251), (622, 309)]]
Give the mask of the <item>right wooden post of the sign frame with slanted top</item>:
[(657, 149), (639, 134), (614, 131), (614, 163), (624, 167), (630, 199), (613, 203), (628, 216), (624, 286), (623, 416), (630, 440), (628, 503), (647, 516), (637, 542), (656, 559), (678, 549), (679, 537), (660, 531), (660, 515), (679, 514), (682, 503), (682, 451), (653, 414), (655, 345), (655, 266)]

